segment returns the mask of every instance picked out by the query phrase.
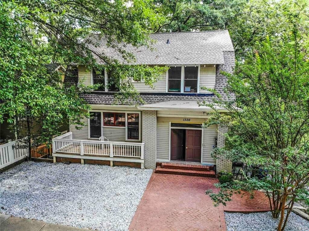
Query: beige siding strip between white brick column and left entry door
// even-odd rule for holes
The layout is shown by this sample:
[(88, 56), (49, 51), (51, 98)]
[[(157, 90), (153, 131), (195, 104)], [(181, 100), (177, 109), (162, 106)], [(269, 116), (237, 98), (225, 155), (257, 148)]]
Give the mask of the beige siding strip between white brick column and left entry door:
[(169, 122), (157, 122), (157, 160), (169, 159)]

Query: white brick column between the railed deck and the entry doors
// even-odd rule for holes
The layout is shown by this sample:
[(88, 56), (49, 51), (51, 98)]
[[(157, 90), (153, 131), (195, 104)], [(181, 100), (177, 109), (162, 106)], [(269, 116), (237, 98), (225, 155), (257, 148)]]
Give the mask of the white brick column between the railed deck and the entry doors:
[(142, 111), (145, 168), (155, 168), (157, 158), (157, 111)]

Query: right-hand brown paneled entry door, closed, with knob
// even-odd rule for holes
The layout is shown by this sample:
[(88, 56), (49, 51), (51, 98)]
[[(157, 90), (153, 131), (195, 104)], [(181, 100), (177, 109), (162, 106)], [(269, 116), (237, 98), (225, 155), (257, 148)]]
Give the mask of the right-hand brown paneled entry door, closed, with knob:
[(202, 130), (186, 130), (186, 161), (201, 162)]

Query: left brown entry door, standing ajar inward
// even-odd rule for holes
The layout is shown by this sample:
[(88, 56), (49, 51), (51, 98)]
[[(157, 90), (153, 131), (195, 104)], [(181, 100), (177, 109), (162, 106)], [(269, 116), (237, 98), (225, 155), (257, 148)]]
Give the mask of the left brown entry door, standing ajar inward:
[(181, 129), (171, 129), (171, 160), (182, 158), (183, 147), (183, 131)]

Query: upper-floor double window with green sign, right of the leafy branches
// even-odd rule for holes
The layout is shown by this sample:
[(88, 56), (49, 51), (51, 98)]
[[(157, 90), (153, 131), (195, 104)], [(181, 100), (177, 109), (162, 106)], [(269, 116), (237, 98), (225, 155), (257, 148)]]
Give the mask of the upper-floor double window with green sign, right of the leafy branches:
[(171, 66), (167, 71), (167, 92), (198, 93), (200, 65)]

